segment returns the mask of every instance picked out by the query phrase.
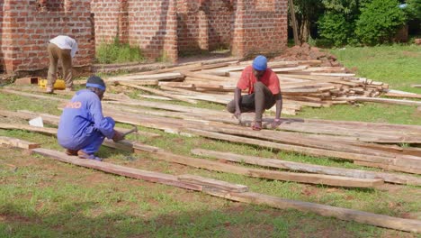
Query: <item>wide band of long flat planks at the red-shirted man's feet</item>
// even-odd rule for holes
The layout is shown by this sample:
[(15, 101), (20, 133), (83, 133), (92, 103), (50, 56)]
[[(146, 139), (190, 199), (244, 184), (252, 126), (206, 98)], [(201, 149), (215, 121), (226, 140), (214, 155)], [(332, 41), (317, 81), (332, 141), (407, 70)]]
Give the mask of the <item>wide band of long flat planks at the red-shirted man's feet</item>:
[[(41, 99), (49, 97), (61, 104), (65, 101), (53, 96), (1, 91)], [(254, 114), (243, 114), (241, 125), (238, 125), (238, 121), (227, 112), (134, 99), (105, 101), (103, 111), (118, 122), (167, 133), (246, 143), (271, 150), (351, 160), (367, 167), (421, 174), (421, 149), (401, 146), (421, 144), (419, 125), (293, 118), (282, 119), (276, 131), (255, 132), (243, 126), (252, 124)], [(272, 119), (264, 119), (264, 128), (270, 128), (271, 122)]]

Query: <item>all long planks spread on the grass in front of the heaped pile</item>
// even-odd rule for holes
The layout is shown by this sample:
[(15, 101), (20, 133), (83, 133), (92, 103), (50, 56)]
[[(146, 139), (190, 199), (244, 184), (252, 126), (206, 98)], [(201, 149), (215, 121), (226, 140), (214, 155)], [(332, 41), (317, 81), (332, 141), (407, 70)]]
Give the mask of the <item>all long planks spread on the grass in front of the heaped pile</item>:
[[(37, 93), (30, 94), (10, 89), (1, 89), (0, 92), (28, 96), (40, 100), (48, 98), (50, 100), (56, 100), (58, 104), (63, 104), (67, 101), (56, 96), (46, 96)], [(215, 140), (252, 144), (274, 149), (275, 151), (291, 151), (315, 157), (351, 160), (354, 161), (355, 164), (367, 167), (421, 174), (421, 149), (399, 146), (401, 143), (421, 144), (421, 126), (417, 125), (372, 124), (294, 118), (282, 119), (282, 124), (278, 128), (279, 130), (262, 130), (260, 132), (255, 132), (239, 126), (236, 120), (223, 111), (126, 99), (124, 96), (112, 96), (112, 100), (104, 101), (103, 111), (105, 115), (112, 116), (117, 122), (160, 129), (167, 133), (203, 136)], [(30, 119), (40, 115), (38, 113), (24, 111), (13, 113), (0, 111), (0, 114), (7, 117), (11, 116), (24, 119)], [(50, 124), (58, 123), (57, 116), (49, 114), (42, 114), (41, 116), (46, 118)], [(243, 120), (241, 124), (251, 124), (253, 117), (254, 114), (244, 114), (244, 116), (242, 116)], [(272, 120), (264, 120), (264, 127), (270, 128), (271, 122)], [(13, 126), (12, 124), (2, 124), (1, 126), (6, 129), (17, 128), (21, 130), (31, 130), (31, 128), (23, 127), (21, 125)], [(49, 130), (44, 133), (55, 133), (55, 130)], [(7, 141), (4, 138), (2, 140)], [(0, 140), (0, 143), (4, 143), (2, 140)], [(36, 144), (32, 145), (31, 143), (23, 143), (20, 141), (7, 142), (11, 145), (25, 148), (29, 146), (36, 148), (38, 146)], [(382, 182), (416, 186), (419, 186), (421, 183), (419, 177), (392, 172), (372, 172), (359, 169), (333, 168), (312, 165), (309, 163), (294, 163), (285, 160), (263, 160), (262, 158), (243, 157), (217, 151), (193, 151), (193, 154), (196, 155), (225, 160), (225, 162), (211, 161), (175, 155), (159, 148), (145, 146), (136, 142), (128, 142), (125, 146), (129, 149), (128, 151), (148, 151), (154, 153), (159, 160), (166, 160), (195, 168), (237, 173), (258, 178), (362, 188), (375, 188)], [(125, 147), (116, 146), (116, 148), (122, 149)], [(152, 171), (126, 168), (110, 163), (78, 160), (75, 157), (69, 157), (57, 151), (45, 149), (33, 149), (32, 151), (56, 158), (57, 160), (71, 162), (88, 168), (100, 169), (122, 176), (146, 179), (148, 181), (180, 188), (202, 191), (212, 196), (224, 197), (239, 202), (261, 204), (277, 208), (295, 208), (301, 211), (315, 212), (319, 215), (335, 216), (339, 219), (351, 219), (364, 224), (420, 232), (419, 221), (417, 220), (374, 215), (340, 207), (291, 201), (280, 197), (270, 197), (248, 192), (246, 191), (247, 188), (244, 186), (228, 185), (223, 181), (212, 181), (207, 178), (192, 177), (191, 175), (175, 176), (158, 174)], [(227, 160), (272, 167), (275, 169), (282, 169), (282, 171), (245, 168), (234, 164), (227, 164)], [(317, 158), (314, 160), (317, 160)]]

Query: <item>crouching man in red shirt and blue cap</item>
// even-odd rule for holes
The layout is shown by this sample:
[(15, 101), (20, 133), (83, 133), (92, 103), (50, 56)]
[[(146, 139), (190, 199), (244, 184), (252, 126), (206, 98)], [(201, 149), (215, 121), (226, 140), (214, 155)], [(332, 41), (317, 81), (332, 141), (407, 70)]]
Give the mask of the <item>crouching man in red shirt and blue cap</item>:
[[(241, 90), (248, 88), (248, 95), (241, 96)], [(262, 114), (265, 109), (276, 104), (276, 114), (273, 126), (281, 124), (282, 94), (279, 78), (267, 69), (267, 59), (259, 55), (253, 60), (253, 65), (247, 66), (241, 74), (234, 91), (234, 100), (228, 103), (227, 110), (237, 118), (241, 113), (255, 112), (255, 131), (262, 129)]]

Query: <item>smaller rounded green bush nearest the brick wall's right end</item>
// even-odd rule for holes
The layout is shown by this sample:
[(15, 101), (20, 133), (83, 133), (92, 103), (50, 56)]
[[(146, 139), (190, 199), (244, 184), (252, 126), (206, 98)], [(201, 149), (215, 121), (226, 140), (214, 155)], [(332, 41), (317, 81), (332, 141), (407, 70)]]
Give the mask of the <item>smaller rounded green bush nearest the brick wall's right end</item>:
[(345, 14), (327, 12), (318, 20), (318, 31), (322, 38), (331, 41), (335, 46), (348, 43), (354, 32), (354, 24), (347, 21)]

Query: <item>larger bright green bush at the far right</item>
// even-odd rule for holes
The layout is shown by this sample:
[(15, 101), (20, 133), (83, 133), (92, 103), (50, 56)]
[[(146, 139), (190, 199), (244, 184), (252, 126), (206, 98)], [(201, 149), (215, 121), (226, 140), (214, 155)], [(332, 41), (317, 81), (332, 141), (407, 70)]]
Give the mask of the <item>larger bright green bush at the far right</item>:
[(363, 44), (388, 42), (406, 21), (397, 0), (373, 0), (363, 5), (355, 33)]

